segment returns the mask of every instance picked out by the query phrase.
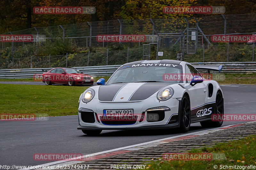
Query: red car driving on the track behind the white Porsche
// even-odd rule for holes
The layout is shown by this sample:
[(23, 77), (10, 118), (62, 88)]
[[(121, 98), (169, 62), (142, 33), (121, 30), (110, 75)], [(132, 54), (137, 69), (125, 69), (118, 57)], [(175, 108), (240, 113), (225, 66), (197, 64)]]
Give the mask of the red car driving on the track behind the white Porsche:
[(93, 84), (93, 77), (83, 74), (75, 68), (53, 68), (43, 73), (42, 80), (46, 85), (68, 84), (69, 86), (77, 84)]

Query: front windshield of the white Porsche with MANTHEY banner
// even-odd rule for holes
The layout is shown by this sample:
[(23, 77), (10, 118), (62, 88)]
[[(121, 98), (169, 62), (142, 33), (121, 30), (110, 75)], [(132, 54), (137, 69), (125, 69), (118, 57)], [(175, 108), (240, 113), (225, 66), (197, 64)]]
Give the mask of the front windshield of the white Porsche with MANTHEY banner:
[(108, 84), (128, 82), (183, 82), (181, 79), (174, 78), (177, 75), (182, 75), (182, 66), (179, 64), (130, 64), (118, 68), (115, 74), (108, 80)]

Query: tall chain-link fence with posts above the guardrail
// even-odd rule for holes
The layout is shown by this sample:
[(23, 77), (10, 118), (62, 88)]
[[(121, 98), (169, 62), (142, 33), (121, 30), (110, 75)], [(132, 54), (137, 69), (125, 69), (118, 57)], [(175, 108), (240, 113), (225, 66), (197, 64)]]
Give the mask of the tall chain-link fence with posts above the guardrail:
[[(148, 58), (151, 60), (177, 59), (177, 54), (180, 54), (180, 60), (189, 62), (253, 61), (254, 44), (212, 42), (211, 36), (255, 34), (255, 32), (256, 14), (111, 20), (36, 27), (5, 33), (32, 34), (34, 40), (33, 42), (1, 42), (0, 68), (112, 65), (127, 62), (127, 56), (130, 62)], [(144, 42), (97, 41), (97, 35), (102, 34), (145, 35), (146, 40)], [(122, 48), (124, 50), (107, 50), (113, 44), (117, 46), (125, 44)], [(99, 50), (92, 50), (93, 53), (91, 51), (89, 54), (88, 47)], [(67, 55), (56, 56), (52, 51), (60, 54), (68, 52), (68, 57)], [(70, 51), (74, 54), (70, 54)], [(164, 55), (158, 56), (158, 52), (163, 52)], [(45, 56), (50, 54), (52, 56)]]

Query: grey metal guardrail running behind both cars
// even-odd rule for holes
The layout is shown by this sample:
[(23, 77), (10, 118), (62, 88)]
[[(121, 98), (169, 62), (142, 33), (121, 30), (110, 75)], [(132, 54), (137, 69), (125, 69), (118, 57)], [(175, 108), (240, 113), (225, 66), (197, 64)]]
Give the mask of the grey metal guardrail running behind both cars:
[[(256, 73), (256, 62), (205, 62), (191, 63), (192, 65), (223, 65), (222, 73)], [(121, 65), (73, 67), (84, 74), (92, 76), (110, 76)], [(28, 68), (0, 70), (0, 79), (33, 78), (34, 74), (43, 74), (44, 70), (52, 68)]]

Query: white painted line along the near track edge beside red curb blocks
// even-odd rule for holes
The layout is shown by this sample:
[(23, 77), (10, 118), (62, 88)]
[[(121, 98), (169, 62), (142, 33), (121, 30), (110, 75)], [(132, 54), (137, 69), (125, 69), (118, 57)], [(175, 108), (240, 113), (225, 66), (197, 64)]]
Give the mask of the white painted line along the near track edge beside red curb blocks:
[[(239, 124), (241, 124), (241, 123), (239, 123)], [(236, 124), (232, 124), (232, 125), (228, 125), (228, 126), (223, 126), (223, 127), (218, 127), (218, 128), (213, 128), (213, 129), (208, 129), (208, 130), (203, 130), (203, 131), (196, 131), (196, 132), (182, 134), (182, 135), (178, 135), (178, 136), (172, 136), (172, 137), (168, 137), (168, 138), (152, 140), (152, 141), (149, 141), (149, 142), (144, 142), (144, 143), (130, 145), (130, 146), (124, 146), (124, 147), (120, 147), (120, 148), (116, 148), (116, 149), (111, 149), (111, 150), (108, 150), (108, 151), (96, 152), (96, 153), (92, 153), (92, 154), (88, 154), (88, 155), (83, 155), (82, 158), (88, 158), (88, 157), (91, 157), (91, 156), (96, 156), (96, 155), (100, 155), (100, 154), (104, 154), (104, 153), (108, 153), (108, 152), (125, 150), (125, 149), (128, 149), (128, 148), (132, 148), (132, 147), (136, 147), (136, 146), (141, 146), (141, 145), (147, 145), (147, 144), (159, 142), (159, 141), (162, 141), (162, 140), (168, 140), (168, 139), (179, 138), (179, 137), (188, 136), (188, 135), (194, 135), (194, 134), (197, 134), (197, 133), (203, 133), (203, 132), (206, 132), (206, 131), (217, 130), (217, 129), (220, 129), (220, 128), (225, 128), (225, 127), (234, 126), (234, 125), (236, 125)], [(80, 158), (76, 157), (76, 158), (73, 158), (73, 159), (81, 159), (81, 157)], [(73, 161), (59, 160), (59, 161), (55, 161), (55, 162), (50, 162), (50, 163), (38, 165), (38, 166), (52, 166), (52, 165), (57, 165), (57, 164), (61, 164), (61, 163), (65, 163), (65, 165), (73, 165), (73, 164), (77, 164), (77, 163), (81, 163), (81, 162), (82, 161), (75, 161), (75, 160), (73, 160)], [(18, 170), (32, 170), (32, 169), (31, 168), (26, 168), (26, 169), (18, 169)]]

